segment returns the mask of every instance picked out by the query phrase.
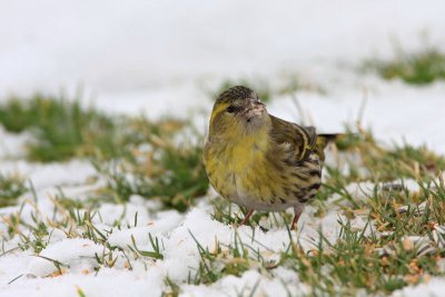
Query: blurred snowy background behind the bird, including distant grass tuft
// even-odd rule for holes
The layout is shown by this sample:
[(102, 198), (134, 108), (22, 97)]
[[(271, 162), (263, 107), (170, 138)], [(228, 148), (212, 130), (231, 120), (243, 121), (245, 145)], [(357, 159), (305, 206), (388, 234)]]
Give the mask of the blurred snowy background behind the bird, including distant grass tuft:
[[(445, 150), (438, 0), (0, 6), (0, 100), (62, 92), (110, 112), (189, 117), (208, 112), (222, 87), (245, 83), (289, 120), (333, 131), (359, 118), (379, 138)], [(438, 75), (404, 77), (432, 52)]]

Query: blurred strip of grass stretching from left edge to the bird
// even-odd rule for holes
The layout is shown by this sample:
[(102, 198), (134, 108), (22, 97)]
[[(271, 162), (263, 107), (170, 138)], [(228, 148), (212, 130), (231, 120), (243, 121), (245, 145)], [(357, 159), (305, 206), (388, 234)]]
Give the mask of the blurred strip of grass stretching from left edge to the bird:
[[(111, 118), (92, 107), (82, 108), (79, 101), (36, 95), (0, 105), (0, 123), (12, 132), (33, 133), (28, 143), (30, 160), (90, 158), (108, 181), (102, 197), (115, 201), (139, 195), (185, 211), (208, 189), (201, 146), (175, 139), (188, 125), (184, 121)], [(17, 196), (11, 190), (7, 188), (3, 196)]]

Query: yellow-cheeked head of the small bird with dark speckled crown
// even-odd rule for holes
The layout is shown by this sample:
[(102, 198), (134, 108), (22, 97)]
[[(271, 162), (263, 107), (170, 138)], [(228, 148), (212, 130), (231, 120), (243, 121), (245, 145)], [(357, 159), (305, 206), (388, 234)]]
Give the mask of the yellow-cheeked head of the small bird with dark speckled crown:
[(239, 137), (268, 129), (270, 118), (258, 95), (243, 86), (219, 95), (210, 118), (210, 136)]

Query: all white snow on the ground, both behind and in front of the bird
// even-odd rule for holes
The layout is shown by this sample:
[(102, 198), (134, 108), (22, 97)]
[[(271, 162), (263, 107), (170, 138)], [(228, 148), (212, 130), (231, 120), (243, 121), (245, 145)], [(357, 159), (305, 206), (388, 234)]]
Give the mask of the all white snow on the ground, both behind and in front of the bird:
[[(319, 130), (337, 131), (344, 122), (355, 122), (364, 105), (362, 122), (372, 127), (378, 139), (427, 143), (445, 154), (443, 82), (409, 87), (354, 70), (365, 58), (390, 57), (394, 39), (409, 51), (424, 46), (422, 36), (427, 34), (428, 43), (444, 49), (445, 18), (438, 0), (279, 1), (274, 6), (265, 1), (123, 4), (19, 0), (0, 7), (0, 100), (9, 93), (34, 91), (73, 95), (80, 88), (85, 100), (110, 112), (144, 112), (156, 118), (202, 110), (199, 115), (207, 116), (211, 101), (204, 90), (215, 89), (221, 79), (260, 76), (274, 87), (284, 73), (298, 73), (326, 90), (325, 95), (298, 95), (306, 122)], [(286, 96), (276, 98), (269, 111), (287, 119), (301, 118), (293, 98)], [(205, 129), (202, 116), (198, 119)], [(0, 171), (19, 172), (36, 186), (39, 200), (27, 204), (22, 210), (26, 219), (38, 211), (43, 219), (55, 220), (50, 197), (58, 187), (81, 199), (99, 185), (87, 182), (93, 170), (83, 161), (36, 165), (20, 160), (27, 137), (0, 128)], [(107, 250), (87, 239), (68, 239), (67, 230), (55, 229), (41, 256), (69, 265), (67, 271), (42, 278), (57, 273), (50, 260), (12, 250), (0, 257), (0, 296), (79, 296), (78, 288), (88, 297), (157, 296), (166, 276), (182, 281), (189, 270), (196, 270), (199, 254), (190, 232), (210, 250), (216, 238), (233, 242), (235, 230), (211, 220), (206, 199), (186, 215), (149, 211), (151, 208), (156, 206), (138, 197), (125, 206), (102, 205), (101, 220), (95, 222), (110, 234), (116, 219), (130, 225), (110, 235), (109, 240), (122, 248), (131, 245), (134, 235), (140, 249), (150, 249), (150, 232), (164, 242), (164, 260), (132, 260), (134, 270), (129, 271), (118, 254), (113, 268), (95, 276), (95, 253)], [(139, 220), (135, 227), (136, 210)], [(14, 211), (14, 207), (0, 209), (1, 215)], [(322, 226), (335, 240), (338, 214), (333, 210), (313, 220), (310, 211), (300, 220), (300, 239), (316, 236)], [(363, 221), (356, 224), (363, 226)], [(6, 224), (0, 227), (4, 232)], [(238, 232), (243, 240), (251, 241), (250, 228), (241, 227)], [(271, 260), (289, 240), (284, 229), (267, 234), (256, 229), (255, 234), (253, 245)], [(3, 249), (14, 248), (19, 241), (3, 242)], [(184, 285), (181, 289), (186, 296), (234, 296), (257, 284), (258, 295), (307, 291), (298, 276), (285, 268), (269, 277), (249, 270), (241, 278), (225, 277), (208, 287)], [(437, 278), (395, 295), (418, 297), (444, 290), (443, 279)]]

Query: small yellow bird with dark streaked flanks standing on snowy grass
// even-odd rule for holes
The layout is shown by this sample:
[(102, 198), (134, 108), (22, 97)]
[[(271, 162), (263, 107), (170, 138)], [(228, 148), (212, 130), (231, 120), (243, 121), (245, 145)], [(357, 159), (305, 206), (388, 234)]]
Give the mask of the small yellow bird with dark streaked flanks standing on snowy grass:
[(322, 182), (324, 148), (335, 135), (318, 135), (269, 115), (257, 93), (243, 86), (217, 98), (204, 148), (210, 184), (249, 211), (294, 208), (296, 224)]

